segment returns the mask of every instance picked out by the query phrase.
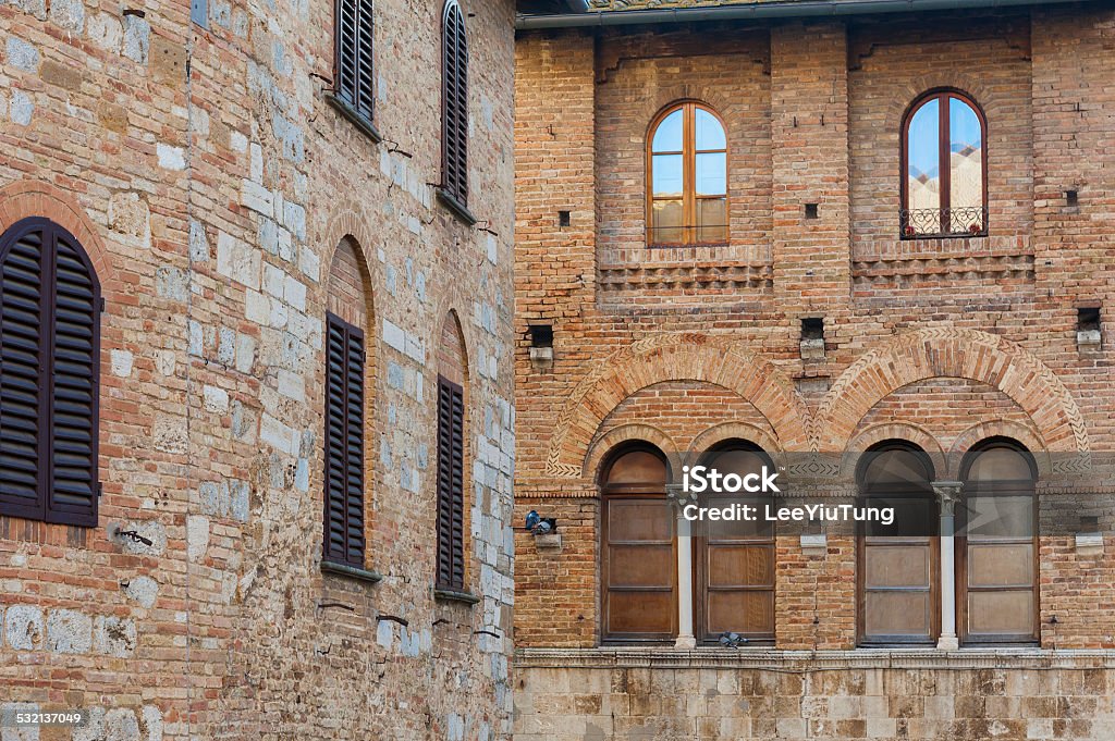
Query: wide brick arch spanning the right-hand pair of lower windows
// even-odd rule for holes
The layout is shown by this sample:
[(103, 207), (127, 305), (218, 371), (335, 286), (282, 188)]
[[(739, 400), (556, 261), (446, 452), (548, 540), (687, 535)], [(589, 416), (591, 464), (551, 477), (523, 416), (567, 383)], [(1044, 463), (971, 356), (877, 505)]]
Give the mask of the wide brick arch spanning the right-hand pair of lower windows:
[(1076, 400), (1041, 360), (995, 334), (957, 329), (900, 334), (850, 365), (816, 416), (817, 449), (844, 450), (875, 403), (930, 378), (964, 378), (1002, 391), (1029, 416), (1047, 450), (1089, 449)]

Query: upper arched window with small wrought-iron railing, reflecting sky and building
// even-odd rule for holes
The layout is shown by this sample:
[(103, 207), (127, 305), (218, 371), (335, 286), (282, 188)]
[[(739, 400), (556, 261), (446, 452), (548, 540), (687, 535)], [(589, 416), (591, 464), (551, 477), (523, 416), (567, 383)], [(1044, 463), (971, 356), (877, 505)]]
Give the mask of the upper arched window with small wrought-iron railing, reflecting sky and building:
[(962, 92), (928, 92), (902, 121), (902, 237), (985, 236), (987, 221), (983, 111)]

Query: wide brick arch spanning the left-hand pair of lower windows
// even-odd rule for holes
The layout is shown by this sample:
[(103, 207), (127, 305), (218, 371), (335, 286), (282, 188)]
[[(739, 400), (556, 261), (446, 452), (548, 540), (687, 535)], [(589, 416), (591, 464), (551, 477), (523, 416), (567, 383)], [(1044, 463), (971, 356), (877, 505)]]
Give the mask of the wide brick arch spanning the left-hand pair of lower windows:
[(807, 443), (808, 409), (772, 363), (731, 347), (728, 338), (659, 334), (599, 361), (572, 390), (550, 438), (546, 475), (582, 478), (589, 446), (609, 412), (663, 381), (702, 381), (735, 391), (766, 417), (780, 449)]

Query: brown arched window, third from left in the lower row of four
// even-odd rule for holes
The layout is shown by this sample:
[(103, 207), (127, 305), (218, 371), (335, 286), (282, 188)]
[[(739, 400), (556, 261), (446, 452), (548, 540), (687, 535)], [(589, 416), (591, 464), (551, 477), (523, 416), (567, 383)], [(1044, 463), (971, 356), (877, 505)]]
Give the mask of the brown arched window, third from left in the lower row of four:
[(940, 633), (940, 517), (933, 465), (918, 446), (886, 440), (863, 455), (861, 504), (893, 507), (890, 526), (859, 535), (860, 645), (935, 643)]

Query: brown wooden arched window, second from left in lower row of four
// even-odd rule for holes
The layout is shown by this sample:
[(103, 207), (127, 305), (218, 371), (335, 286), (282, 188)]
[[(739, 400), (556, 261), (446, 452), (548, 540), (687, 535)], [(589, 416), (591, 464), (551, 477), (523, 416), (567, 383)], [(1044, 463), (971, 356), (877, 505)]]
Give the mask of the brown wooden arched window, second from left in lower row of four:
[[(721, 475), (762, 474), (774, 470), (770, 458), (757, 445), (729, 440), (701, 457), (701, 465)], [(733, 504), (763, 506), (768, 495), (705, 495), (702, 507), (723, 508)], [(716, 643), (723, 633), (736, 633), (748, 642), (773, 643), (775, 637), (775, 528), (763, 519), (708, 521), (694, 538), (694, 606), (696, 636)]]

